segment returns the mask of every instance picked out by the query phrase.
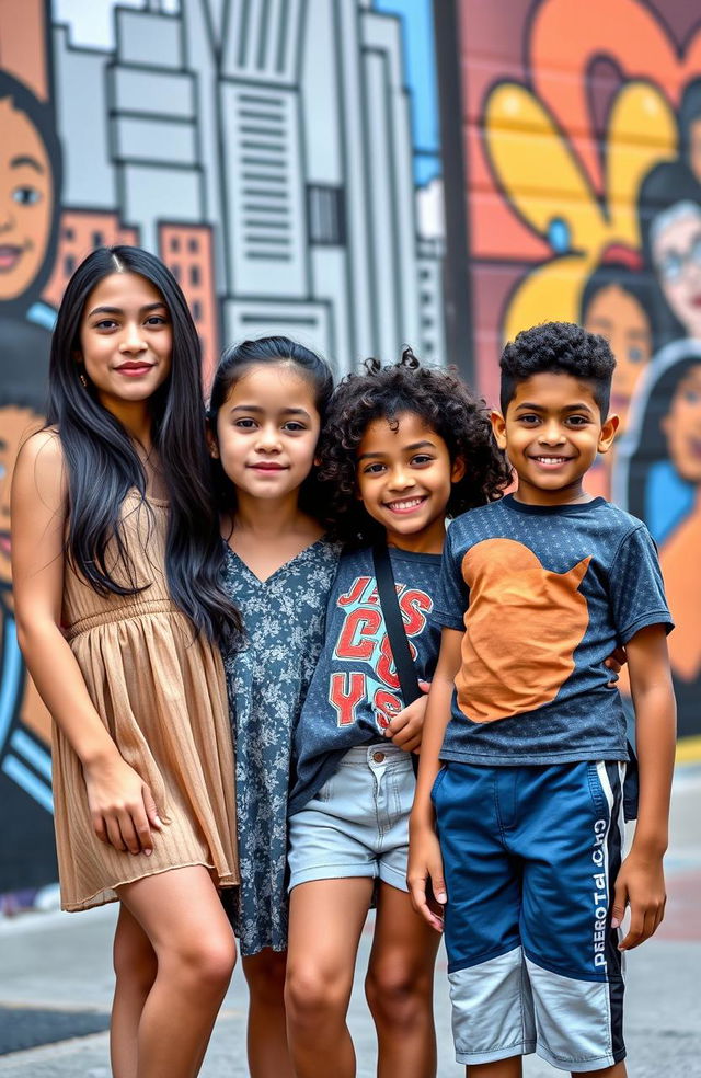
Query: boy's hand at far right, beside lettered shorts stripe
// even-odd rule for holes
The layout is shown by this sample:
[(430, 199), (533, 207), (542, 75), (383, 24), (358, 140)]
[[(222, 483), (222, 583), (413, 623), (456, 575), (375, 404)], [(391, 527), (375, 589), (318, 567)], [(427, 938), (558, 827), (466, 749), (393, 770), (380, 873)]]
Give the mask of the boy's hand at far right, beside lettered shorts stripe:
[(662, 857), (644, 857), (631, 850), (616, 880), (611, 910), (611, 927), (618, 928), (625, 907), (631, 907), (631, 922), (619, 943), (620, 951), (631, 951), (650, 939), (665, 916), (666, 901)]

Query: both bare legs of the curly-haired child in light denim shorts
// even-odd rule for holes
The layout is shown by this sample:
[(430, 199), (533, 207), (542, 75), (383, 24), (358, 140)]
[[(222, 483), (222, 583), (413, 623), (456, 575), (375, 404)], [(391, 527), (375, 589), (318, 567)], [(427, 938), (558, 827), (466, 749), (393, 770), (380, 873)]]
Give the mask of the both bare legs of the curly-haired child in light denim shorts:
[[(354, 1078), (346, 1025), (360, 932), (372, 881), (319, 880), (291, 893), (286, 985), (297, 1078)], [(433, 968), (439, 938), (409, 895), (381, 886), (366, 994), (378, 1032), (379, 1078), (433, 1078)]]

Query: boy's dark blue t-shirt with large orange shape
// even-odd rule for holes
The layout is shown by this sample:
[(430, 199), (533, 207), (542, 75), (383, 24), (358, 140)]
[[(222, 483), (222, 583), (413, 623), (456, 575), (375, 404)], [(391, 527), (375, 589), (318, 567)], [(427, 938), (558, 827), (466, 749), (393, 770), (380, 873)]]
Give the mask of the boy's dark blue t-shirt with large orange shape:
[(598, 497), (507, 495), (449, 527), (434, 619), (464, 631), (441, 759), (625, 760), (605, 661), (645, 626), (673, 628), (645, 525)]

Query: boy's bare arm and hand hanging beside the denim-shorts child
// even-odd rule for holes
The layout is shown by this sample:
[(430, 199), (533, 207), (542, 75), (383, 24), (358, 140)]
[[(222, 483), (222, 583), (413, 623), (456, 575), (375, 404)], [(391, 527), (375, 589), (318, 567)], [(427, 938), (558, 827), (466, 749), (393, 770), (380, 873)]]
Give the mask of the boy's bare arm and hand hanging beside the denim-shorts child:
[(414, 807), (409, 821), (410, 847), (406, 882), (414, 908), (437, 931), (443, 930), (443, 918), (438, 909), (432, 908), (429, 905), (426, 885), (430, 882), (439, 906), (445, 905), (447, 894), (430, 791), (440, 769), (439, 755), (446, 726), (450, 721), (450, 704), (456, 674), (460, 668), (462, 637), (463, 634), (459, 630), (443, 630), (438, 665), (428, 693)]

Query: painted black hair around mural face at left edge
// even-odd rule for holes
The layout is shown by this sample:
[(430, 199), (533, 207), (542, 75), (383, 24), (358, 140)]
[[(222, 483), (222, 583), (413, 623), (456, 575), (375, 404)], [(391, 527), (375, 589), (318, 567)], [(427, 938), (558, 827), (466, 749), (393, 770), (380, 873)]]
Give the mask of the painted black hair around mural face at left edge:
[(49, 234), (47, 237), (46, 250), (44, 252), (42, 265), (39, 266), (39, 270), (35, 274), (33, 280), (30, 282), (26, 290), (21, 296), (18, 296), (12, 300), (2, 301), (3, 318), (9, 316), (23, 318), (32, 303), (41, 297), (44, 285), (48, 280), (51, 270), (54, 268), (61, 205), (62, 156), (61, 144), (56, 133), (56, 118), (54, 116), (51, 105), (39, 101), (39, 99), (32, 93), (30, 88), (23, 82), (20, 82), (19, 79), (15, 79), (7, 71), (0, 71), (0, 101), (5, 101), (8, 98), (12, 102), (12, 107), (16, 112), (22, 113), (27, 117), (44, 142), (46, 153), (51, 165), (51, 186), (54, 195)]

